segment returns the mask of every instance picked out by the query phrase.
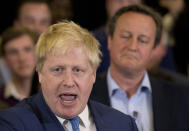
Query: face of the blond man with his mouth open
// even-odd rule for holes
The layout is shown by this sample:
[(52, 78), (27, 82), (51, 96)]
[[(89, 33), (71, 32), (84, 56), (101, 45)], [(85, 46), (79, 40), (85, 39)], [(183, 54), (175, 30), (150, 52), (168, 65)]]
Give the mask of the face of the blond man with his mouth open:
[(96, 72), (83, 48), (48, 56), (38, 74), (44, 98), (55, 115), (72, 118), (84, 110)]

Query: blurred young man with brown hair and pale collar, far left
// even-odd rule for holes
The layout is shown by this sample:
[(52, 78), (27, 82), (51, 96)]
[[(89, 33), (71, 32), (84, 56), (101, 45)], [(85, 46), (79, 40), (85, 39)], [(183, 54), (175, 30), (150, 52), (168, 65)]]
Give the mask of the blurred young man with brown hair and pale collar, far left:
[(32, 88), (35, 71), (34, 45), (37, 34), (23, 27), (10, 27), (2, 33), (1, 51), (11, 80), (0, 88), (0, 109), (16, 105), (20, 100), (37, 92)]

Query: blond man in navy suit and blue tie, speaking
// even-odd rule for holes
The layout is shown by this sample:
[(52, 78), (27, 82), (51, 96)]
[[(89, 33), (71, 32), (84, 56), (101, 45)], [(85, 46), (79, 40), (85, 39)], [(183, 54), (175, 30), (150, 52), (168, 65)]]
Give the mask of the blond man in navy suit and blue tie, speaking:
[(138, 131), (131, 117), (88, 101), (101, 52), (87, 30), (68, 21), (52, 25), (35, 54), (42, 92), (0, 112), (2, 131)]

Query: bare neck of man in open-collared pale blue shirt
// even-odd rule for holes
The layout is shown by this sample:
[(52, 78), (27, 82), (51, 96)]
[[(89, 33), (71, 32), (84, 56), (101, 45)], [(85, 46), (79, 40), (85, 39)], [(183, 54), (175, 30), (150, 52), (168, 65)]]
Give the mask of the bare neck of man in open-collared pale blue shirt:
[(131, 98), (137, 92), (144, 77), (144, 71), (118, 71), (116, 68), (113, 67), (110, 67), (110, 74), (119, 85), (119, 87), (127, 93), (128, 98)]

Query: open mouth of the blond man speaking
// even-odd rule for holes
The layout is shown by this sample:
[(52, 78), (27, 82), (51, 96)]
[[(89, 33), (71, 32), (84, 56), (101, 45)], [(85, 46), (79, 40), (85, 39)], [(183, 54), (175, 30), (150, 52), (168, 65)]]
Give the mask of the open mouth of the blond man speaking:
[(77, 95), (76, 94), (61, 94), (60, 98), (61, 100), (63, 100), (64, 103), (71, 103), (74, 100), (76, 100)]

